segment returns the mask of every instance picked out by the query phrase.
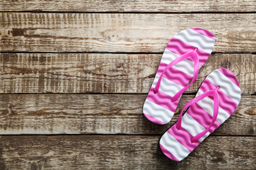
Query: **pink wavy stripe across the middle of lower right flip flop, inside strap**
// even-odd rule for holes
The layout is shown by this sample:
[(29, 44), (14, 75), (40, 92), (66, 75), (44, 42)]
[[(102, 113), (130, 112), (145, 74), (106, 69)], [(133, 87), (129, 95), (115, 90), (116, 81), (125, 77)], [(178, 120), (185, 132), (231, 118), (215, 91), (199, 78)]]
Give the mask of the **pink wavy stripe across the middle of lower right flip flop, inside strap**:
[[(197, 103), (194, 103), (188, 108), (188, 111), (186, 111), (193, 119), (195, 119), (198, 123), (200, 123), (203, 128), (208, 128), (211, 121), (213, 120), (213, 117), (207, 113), (201, 106), (199, 106)], [(216, 120), (213, 126), (210, 128), (209, 132), (212, 133), (215, 129), (217, 129), (221, 124)]]

